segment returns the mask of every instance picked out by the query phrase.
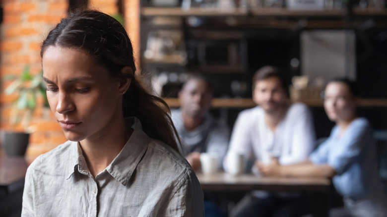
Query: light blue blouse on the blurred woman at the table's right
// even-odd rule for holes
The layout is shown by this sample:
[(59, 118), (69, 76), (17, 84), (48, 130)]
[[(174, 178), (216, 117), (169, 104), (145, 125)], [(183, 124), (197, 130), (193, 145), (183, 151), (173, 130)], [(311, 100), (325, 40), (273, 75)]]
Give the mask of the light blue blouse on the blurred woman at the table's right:
[(357, 118), (340, 136), (334, 126), (329, 138), (312, 153), (315, 164), (327, 163), (336, 171), (333, 184), (344, 197), (359, 200), (381, 191), (376, 143), (369, 122)]

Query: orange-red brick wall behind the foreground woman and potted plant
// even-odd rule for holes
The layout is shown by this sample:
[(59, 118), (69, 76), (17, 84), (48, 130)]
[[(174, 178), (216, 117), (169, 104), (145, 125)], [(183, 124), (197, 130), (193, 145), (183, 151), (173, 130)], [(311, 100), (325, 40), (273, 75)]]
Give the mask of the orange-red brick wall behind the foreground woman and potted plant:
[[(139, 13), (139, 0), (126, 2), (125, 12), (131, 14), (130, 19), (135, 20), (127, 22), (130, 23), (130, 32), (138, 35), (138, 17), (136, 19), (133, 14)], [(8, 123), (12, 100), (16, 96), (4, 95), (4, 87), (9, 81), (3, 77), (7, 74), (19, 75), (25, 65), (30, 65), (33, 73), (41, 71), (39, 45), (54, 24), (66, 15), (68, 0), (2, 0), (0, 4), (4, 13), (0, 26), (0, 128), (23, 130), (21, 126)], [(116, 0), (89, 0), (89, 7), (109, 14), (118, 12)], [(133, 44), (136, 46), (138, 36), (134, 38), (136, 42)], [(36, 109), (31, 125), (36, 131), (31, 134), (27, 155), (37, 156), (66, 141), (50, 109)]]

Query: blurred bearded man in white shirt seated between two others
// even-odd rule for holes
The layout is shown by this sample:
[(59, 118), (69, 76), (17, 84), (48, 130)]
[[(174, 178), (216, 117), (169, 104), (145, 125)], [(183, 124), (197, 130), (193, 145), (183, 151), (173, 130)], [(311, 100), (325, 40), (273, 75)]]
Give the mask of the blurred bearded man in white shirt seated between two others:
[[(292, 104), (277, 68), (264, 66), (253, 77), (253, 101), (258, 105), (242, 111), (231, 135), (228, 153), (244, 154), (254, 162), (290, 164), (308, 159), (315, 131), (312, 114), (301, 103)], [(228, 171), (227, 157), (224, 161)], [(256, 191), (237, 205), (232, 216), (293, 217), (303, 215), (306, 199), (296, 193)]]

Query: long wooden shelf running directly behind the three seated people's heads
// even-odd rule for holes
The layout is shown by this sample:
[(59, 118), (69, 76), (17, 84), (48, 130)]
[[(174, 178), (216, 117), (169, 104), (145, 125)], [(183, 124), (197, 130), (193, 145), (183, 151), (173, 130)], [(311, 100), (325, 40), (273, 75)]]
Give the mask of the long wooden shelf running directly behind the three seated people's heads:
[[(170, 107), (180, 107), (179, 99), (165, 98), (165, 102)], [(294, 102), (304, 103), (310, 107), (322, 107), (323, 100), (299, 100)], [(212, 108), (253, 108), (256, 104), (252, 99), (222, 99), (214, 98), (212, 100)], [(360, 107), (387, 107), (387, 99), (360, 99)]]

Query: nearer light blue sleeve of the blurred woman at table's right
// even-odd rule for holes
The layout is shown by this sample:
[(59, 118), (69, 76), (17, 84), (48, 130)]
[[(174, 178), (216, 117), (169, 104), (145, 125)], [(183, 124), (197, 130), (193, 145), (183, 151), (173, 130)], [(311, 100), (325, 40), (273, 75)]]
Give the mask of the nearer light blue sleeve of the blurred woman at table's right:
[(342, 134), (336, 148), (330, 153), (328, 164), (340, 175), (357, 161), (364, 147), (370, 145), (375, 145), (375, 141), (368, 122), (357, 121)]

